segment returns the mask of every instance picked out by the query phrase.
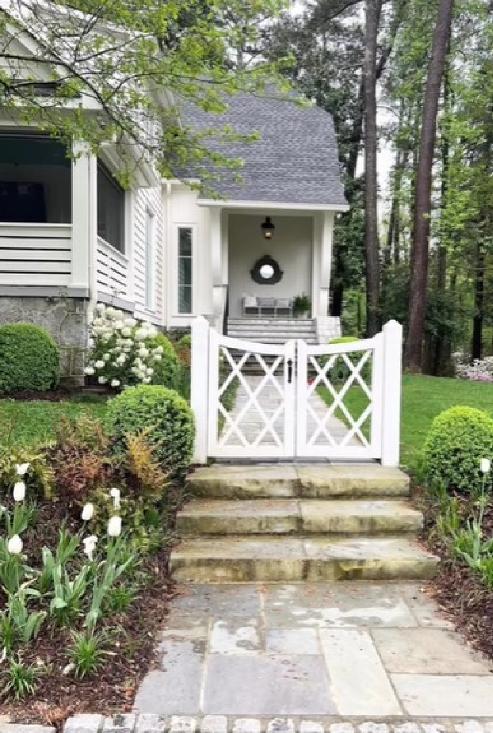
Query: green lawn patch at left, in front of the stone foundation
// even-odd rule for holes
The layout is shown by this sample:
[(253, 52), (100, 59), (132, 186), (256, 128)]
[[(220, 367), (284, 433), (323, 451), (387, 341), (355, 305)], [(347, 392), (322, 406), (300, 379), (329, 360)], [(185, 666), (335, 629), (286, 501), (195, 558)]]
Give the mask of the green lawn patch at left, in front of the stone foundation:
[(55, 437), (62, 416), (103, 417), (105, 399), (75, 397), (66, 402), (0, 399), (0, 443), (32, 447)]

